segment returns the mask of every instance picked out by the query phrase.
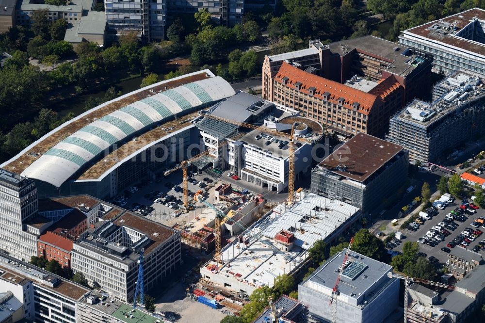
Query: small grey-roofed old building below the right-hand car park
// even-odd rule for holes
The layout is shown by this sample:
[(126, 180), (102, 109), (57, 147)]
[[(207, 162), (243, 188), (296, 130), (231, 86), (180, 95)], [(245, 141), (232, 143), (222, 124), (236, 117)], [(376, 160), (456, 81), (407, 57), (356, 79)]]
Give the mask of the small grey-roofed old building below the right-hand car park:
[(448, 271), (460, 280), (474, 268), (485, 264), (481, 254), (463, 248), (453, 248), (448, 254)]

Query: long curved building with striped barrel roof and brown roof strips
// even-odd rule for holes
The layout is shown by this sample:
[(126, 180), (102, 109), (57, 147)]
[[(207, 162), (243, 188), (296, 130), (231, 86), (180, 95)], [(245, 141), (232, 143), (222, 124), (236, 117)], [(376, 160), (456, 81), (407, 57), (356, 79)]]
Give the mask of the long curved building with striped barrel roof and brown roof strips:
[(197, 111), (235, 94), (210, 70), (131, 92), (82, 113), (1, 166), (36, 182), (42, 197), (115, 196), (187, 158)]

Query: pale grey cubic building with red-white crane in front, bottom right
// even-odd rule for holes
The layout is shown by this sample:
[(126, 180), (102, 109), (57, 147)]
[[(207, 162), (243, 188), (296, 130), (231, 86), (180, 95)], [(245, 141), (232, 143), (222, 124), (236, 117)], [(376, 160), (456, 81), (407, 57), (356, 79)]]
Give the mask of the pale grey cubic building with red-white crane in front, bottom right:
[(332, 321), (329, 300), (340, 273), (333, 302), (336, 323), (384, 322), (398, 307), (399, 280), (389, 278), (392, 266), (347, 249), (317, 268), (298, 286), (298, 300), (308, 306), (308, 322)]

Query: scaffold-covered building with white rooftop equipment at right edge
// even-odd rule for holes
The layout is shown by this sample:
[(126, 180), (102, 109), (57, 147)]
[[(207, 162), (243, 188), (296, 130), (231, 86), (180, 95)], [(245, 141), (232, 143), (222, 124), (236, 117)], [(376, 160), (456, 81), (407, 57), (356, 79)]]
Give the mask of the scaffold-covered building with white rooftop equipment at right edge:
[(437, 162), (460, 143), (484, 132), (484, 76), (458, 70), (436, 84), (431, 103), (415, 100), (389, 122), (386, 140), (404, 146), (409, 159)]

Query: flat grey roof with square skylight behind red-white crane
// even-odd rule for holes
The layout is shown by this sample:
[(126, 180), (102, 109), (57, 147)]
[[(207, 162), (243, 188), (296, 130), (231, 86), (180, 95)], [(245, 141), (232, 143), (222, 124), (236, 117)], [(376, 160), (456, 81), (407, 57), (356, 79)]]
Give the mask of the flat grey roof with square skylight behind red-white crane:
[[(335, 279), (339, 267), (342, 265), (343, 257), (347, 249), (339, 252), (334, 258), (325, 262), (315, 272), (303, 282), (303, 285), (308, 288), (316, 290), (314, 287), (323, 286), (329, 292), (332, 291), (335, 285)], [(392, 270), (392, 266), (383, 262), (374, 260), (372, 258), (357, 254), (354, 251), (350, 252), (348, 260), (355, 262), (361, 262), (366, 265), (365, 269), (356, 275), (354, 279), (349, 279), (344, 275), (341, 275), (339, 284), (340, 295), (345, 294), (349, 298), (358, 299), (361, 294), (371, 289), (378, 280)], [(389, 278), (390, 279), (390, 278)], [(314, 284), (312, 286), (312, 284)]]

